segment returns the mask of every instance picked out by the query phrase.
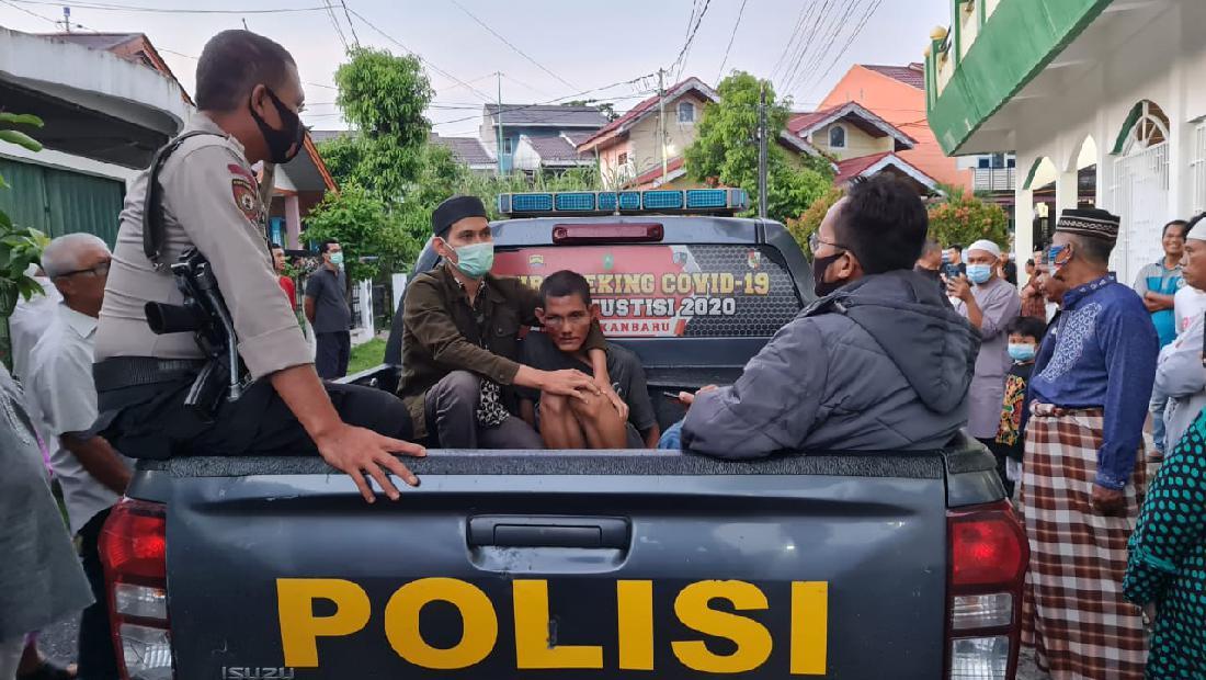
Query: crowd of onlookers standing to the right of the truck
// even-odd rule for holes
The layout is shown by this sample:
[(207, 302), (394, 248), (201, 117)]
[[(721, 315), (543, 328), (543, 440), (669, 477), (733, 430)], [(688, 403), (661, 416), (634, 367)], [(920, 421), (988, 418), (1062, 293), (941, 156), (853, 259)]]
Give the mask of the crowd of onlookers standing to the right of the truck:
[(967, 429), (1024, 516), (1024, 639), (1056, 679), (1206, 674), (1200, 222), (1166, 224), (1131, 289), (1102, 211), (1066, 211), (1020, 289), (989, 241), (917, 263), (980, 332)]

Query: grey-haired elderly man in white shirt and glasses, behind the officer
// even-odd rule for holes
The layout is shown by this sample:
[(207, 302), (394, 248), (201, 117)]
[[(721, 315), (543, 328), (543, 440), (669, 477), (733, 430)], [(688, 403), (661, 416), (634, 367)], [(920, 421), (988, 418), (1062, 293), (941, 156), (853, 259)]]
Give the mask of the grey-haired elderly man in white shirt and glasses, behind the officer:
[(63, 301), (34, 346), (25, 377), (27, 400), (46, 428), (51, 468), (63, 487), (71, 533), (80, 535), (80, 556), (96, 600), (80, 621), (81, 678), (117, 676), (96, 543), (109, 510), (130, 481), (130, 465), (89, 432), (96, 421), (93, 341), (110, 259), (109, 247), (92, 234), (60, 236), (46, 247), (42, 270)]

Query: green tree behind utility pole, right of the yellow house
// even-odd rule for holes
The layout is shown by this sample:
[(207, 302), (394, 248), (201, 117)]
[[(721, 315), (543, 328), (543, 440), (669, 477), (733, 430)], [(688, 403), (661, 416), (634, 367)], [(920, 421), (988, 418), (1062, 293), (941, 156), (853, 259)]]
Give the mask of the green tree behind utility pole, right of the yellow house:
[(761, 88), (767, 92), (767, 215), (785, 221), (801, 215), (833, 183), (833, 172), (824, 159), (804, 157), (800, 168), (775, 141), (788, 123), (788, 107), (775, 101), (774, 88), (744, 71), (737, 71), (716, 88), (720, 101), (709, 104), (696, 127), (696, 140), (686, 150), (687, 175), (697, 182), (718, 181), (740, 187), (756, 200), (757, 125)]

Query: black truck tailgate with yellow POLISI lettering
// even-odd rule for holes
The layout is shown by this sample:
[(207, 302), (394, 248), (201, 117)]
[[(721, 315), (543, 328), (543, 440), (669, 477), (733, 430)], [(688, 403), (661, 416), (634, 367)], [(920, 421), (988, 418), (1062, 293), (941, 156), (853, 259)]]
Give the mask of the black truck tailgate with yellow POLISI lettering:
[(130, 496), (170, 508), (176, 678), (942, 674), (938, 455), (414, 468), (374, 505), (320, 459), (141, 475)]

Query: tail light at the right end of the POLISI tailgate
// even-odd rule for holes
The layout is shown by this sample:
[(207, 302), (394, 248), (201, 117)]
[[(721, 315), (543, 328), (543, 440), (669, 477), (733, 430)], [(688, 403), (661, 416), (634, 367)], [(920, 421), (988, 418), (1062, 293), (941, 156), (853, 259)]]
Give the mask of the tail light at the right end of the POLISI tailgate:
[(1002, 500), (948, 512), (947, 543), (947, 678), (1012, 680), (1030, 562), (1025, 532)]

